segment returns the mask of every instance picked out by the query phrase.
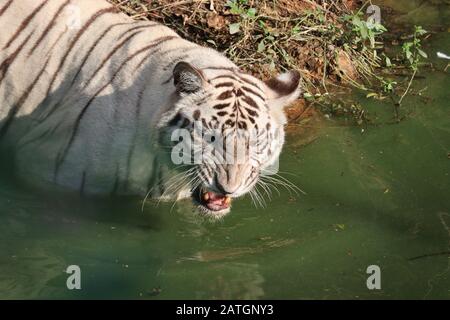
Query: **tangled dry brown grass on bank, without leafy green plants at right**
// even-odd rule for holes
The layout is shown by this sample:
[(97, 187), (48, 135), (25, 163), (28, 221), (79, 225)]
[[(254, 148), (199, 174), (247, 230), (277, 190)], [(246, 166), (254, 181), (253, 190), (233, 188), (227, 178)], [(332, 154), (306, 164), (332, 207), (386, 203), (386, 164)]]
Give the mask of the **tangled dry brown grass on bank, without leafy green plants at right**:
[[(224, 52), (261, 78), (300, 70), (314, 94), (326, 91), (328, 83), (364, 76), (358, 62), (367, 57), (343, 49), (346, 34), (340, 19), (358, 1), (110, 1), (135, 19), (160, 21), (188, 40)], [(232, 34), (237, 24), (239, 31)]]

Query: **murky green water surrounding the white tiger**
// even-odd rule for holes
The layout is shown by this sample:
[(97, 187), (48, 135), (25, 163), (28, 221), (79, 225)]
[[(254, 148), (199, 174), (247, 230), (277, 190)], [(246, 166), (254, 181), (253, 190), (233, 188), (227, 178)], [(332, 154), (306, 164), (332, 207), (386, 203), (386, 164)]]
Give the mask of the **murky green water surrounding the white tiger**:
[[(449, 255), (408, 260), (450, 251), (450, 77), (434, 58), (450, 34), (425, 49), (436, 71), (415, 83), (427, 89), (405, 100), (406, 119), (391, 124), (392, 105), (361, 96), (376, 125), (332, 118), (313, 143), (289, 141), (281, 171), (307, 195), (274, 194), (265, 209), (245, 198), (210, 223), (188, 202), (142, 212), (3, 178), (0, 298), (450, 298)], [(81, 290), (66, 288), (72, 264)], [(366, 287), (369, 265), (381, 290)]]

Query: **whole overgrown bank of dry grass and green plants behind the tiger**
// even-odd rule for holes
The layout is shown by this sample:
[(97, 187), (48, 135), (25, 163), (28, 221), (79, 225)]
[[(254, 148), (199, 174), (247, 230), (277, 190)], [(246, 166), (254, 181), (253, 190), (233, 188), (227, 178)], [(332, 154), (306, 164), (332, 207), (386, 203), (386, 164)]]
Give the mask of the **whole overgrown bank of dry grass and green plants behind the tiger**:
[[(311, 105), (336, 104), (339, 95), (348, 93), (349, 87), (366, 91), (367, 98), (391, 98), (394, 103), (399, 101), (400, 92), (403, 96), (395, 106), (399, 119), (398, 105), (426, 58), (421, 48), (426, 31), (420, 27), (400, 47), (401, 58), (399, 54), (387, 55), (393, 51), (384, 51), (391, 35), (386, 34), (385, 26), (364, 14), (370, 0), (357, 12), (351, 12), (343, 0), (308, 0), (305, 2), (309, 5), (298, 11), (281, 8), (283, 4), (278, 1), (226, 0), (223, 6), (215, 7), (217, 12), (212, 16), (217, 22), (205, 21), (212, 1), (111, 1), (133, 17), (162, 20), (184, 37), (214, 46), (260, 78), (299, 70), (304, 98)], [(183, 19), (174, 11), (184, 12)], [(226, 27), (222, 30), (222, 26)], [(408, 88), (397, 78), (405, 74), (405, 67), (412, 70)], [(354, 101), (341, 98), (338, 105), (321, 109), (330, 115), (352, 116), (360, 123), (368, 115), (358, 111), (361, 106), (355, 106)]]

